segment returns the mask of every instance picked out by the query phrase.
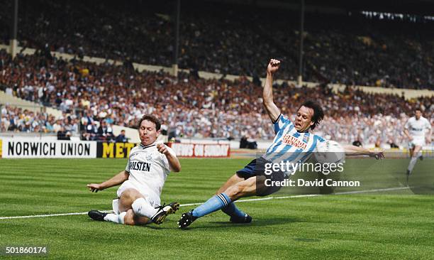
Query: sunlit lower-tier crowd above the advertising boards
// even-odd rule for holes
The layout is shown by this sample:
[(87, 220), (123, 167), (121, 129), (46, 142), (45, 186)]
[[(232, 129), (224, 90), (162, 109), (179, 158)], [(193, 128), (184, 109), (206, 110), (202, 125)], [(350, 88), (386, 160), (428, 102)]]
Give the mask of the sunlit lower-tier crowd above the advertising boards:
[[(12, 60), (4, 50), (0, 51), (0, 60), (0, 86), (6, 93), (62, 110), (64, 127), (75, 125), (74, 129), (81, 129), (87, 140), (101, 136), (96, 134), (99, 121), (105, 127), (104, 139), (111, 140), (111, 125), (135, 127), (145, 113), (158, 114), (165, 122), (163, 130), (176, 136), (254, 139), (274, 136), (262, 106), (262, 87), (246, 77), (234, 82), (187, 74), (172, 77), (164, 72), (138, 72), (108, 63), (67, 62), (47, 58), (42, 53), (17, 55)], [(274, 86), (274, 97), (282, 113), (289, 117), (306, 99), (321, 102), (327, 117), (316, 131), (347, 143), (355, 140), (374, 143), (378, 139), (383, 143), (404, 143), (402, 130), (416, 106), (422, 107), (424, 116), (434, 123), (434, 97), (406, 101), (396, 95), (368, 94), (352, 87), (334, 93), (326, 85), (309, 88), (286, 83)], [(11, 121), (11, 117), (17, 118), (19, 114), (15, 109), (11, 113), (6, 107), (2, 121)], [(28, 121), (22, 120), (13, 129), (50, 131), (46, 122), (55, 123), (47, 115), (24, 113), (23, 118), (26, 116), (45, 121), (35, 124), (38, 128), (31, 128), (26, 127)], [(6, 129), (11, 130), (10, 127)]]

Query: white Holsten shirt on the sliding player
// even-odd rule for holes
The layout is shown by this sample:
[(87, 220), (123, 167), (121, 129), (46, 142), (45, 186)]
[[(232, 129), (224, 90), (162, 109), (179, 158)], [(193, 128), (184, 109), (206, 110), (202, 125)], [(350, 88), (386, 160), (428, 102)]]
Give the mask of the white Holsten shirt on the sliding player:
[[(175, 155), (172, 148), (167, 147), (167, 149), (169, 153)], [(143, 146), (140, 143), (132, 148), (125, 170), (130, 173), (128, 180), (149, 189), (158, 197), (160, 197), (167, 175), (170, 173), (169, 161), (164, 154), (157, 150), (156, 143), (149, 146)]]

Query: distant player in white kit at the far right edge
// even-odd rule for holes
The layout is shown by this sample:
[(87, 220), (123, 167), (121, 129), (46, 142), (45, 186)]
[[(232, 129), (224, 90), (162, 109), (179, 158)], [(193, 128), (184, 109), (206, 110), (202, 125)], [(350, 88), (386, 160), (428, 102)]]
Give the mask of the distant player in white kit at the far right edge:
[[(426, 131), (428, 130), (428, 131)], [(428, 133), (428, 134), (426, 134)], [(420, 157), (422, 157), (422, 147), (425, 146), (425, 139), (428, 143), (431, 142), (431, 124), (428, 119), (422, 117), (421, 109), (416, 109), (414, 113), (414, 117), (410, 117), (406, 123), (404, 128), (404, 134), (407, 136), (408, 148), (410, 149), (411, 160), (408, 163), (407, 168), (407, 182), (408, 176), (413, 171), (414, 166), (416, 165), (416, 161)]]

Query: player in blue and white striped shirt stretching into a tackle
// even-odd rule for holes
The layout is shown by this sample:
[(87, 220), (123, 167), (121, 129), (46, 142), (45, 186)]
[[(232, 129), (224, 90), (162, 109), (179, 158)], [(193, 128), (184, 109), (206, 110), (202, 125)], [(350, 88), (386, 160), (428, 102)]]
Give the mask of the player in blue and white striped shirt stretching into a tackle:
[[(223, 186), (218, 189), (217, 194), (207, 200), (204, 204), (196, 207), (190, 212), (182, 215), (178, 222), (180, 228), (188, 227), (199, 217), (208, 215), (216, 210), (222, 210), (230, 216), (230, 222), (249, 223), (252, 217), (239, 210), (233, 203), (240, 197), (265, 196), (279, 190), (277, 187), (265, 187), (263, 175), (258, 174), (258, 168), (267, 162), (291, 162), (303, 163), (306, 161), (316, 145), (325, 141), (321, 136), (309, 133), (315, 129), (323, 119), (324, 113), (316, 102), (306, 101), (299, 107), (294, 123), (281, 114), (280, 109), (274, 104), (272, 94), (272, 76), (279, 69), (279, 60), (270, 60), (267, 66), (267, 79), (263, 90), (263, 103), (274, 126), (273, 143), (260, 158), (251, 161), (245, 168), (238, 170), (230, 177)], [(345, 154), (348, 156), (367, 155), (374, 158), (384, 158), (384, 153), (371, 152), (357, 146), (345, 146)], [(291, 172), (277, 173), (273, 178), (288, 178)], [(258, 181), (259, 180), (259, 181)]]

